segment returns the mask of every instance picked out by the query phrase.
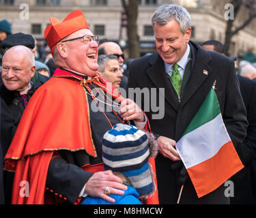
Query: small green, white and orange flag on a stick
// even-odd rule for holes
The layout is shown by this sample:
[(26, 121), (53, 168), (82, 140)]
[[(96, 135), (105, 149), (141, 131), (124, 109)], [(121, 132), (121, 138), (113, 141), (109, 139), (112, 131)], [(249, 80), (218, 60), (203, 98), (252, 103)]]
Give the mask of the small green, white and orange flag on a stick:
[(223, 123), (213, 88), (177, 142), (176, 149), (199, 198), (244, 167)]

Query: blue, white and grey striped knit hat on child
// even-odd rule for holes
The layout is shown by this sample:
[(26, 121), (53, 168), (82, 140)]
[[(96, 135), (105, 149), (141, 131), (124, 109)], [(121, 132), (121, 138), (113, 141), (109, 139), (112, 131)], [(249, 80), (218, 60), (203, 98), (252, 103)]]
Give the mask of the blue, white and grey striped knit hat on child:
[(137, 127), (119, 123), (103, 136), (104, 170), (122, 172), (139, 196), (147, 196), (154, 190), (149, 157), (149, 140)]

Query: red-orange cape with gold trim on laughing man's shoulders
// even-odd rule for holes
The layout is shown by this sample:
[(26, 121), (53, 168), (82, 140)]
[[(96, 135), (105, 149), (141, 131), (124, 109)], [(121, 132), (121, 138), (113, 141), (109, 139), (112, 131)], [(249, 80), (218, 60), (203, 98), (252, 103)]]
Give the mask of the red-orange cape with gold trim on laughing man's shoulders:
[[(57, 69), (53, 78), (29, 100), (5, 155), (5, 170), (16, 171), (12, 204), (45, 203), (46, 176), (54, 151), (84, 150), (96, 157), (83, 82), (80, 76)], [(106, 93), (111, 93), (114, 99), (120, 97), (114, 87), (112, 90), (106, 89), (106, 83), (98, 76), (94, 83)], [(26, 188), (29, 188), (29, 196), (23, 193)]]

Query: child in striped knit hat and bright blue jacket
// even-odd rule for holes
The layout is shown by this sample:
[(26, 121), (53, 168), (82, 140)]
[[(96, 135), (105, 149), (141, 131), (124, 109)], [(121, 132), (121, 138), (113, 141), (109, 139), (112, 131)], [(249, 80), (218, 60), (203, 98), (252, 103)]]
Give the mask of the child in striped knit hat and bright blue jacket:
[[(156, 186), (149, 157), (156, 157), (154, 136), (133, 125), (119, 123), (107, 131), (102, 140), (104, 170), (112, 170), (128, 185), (123, 196), (110, 194), (115, 204), (141, 204), (142, 198), (154, 194)], [(108, 191), (108, 190), (105, 190)], [(106, 192), (105, 192), (106, 193)], [(111, 204), (102, 198), (88, 196), (82, 204)]]

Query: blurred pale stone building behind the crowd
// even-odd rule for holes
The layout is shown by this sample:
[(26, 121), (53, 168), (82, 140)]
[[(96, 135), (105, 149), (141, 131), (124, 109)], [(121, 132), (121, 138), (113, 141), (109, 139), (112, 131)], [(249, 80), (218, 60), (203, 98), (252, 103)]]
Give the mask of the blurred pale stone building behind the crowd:
[[(156, 7), (162, 4), (177, 4), (186, 7), (192, 19), (191, 40), (225, 40), (225, 2), (218, 0), (139, 0), (137, 31), (140, 53), (155, 51), (151, 17)], [(44, 29), (49, 17), (63, 20), (72, 10), (84, 12), (91, 31), (100, 40), (113, 40), (125, 48), (127, 44), (126, 17), (119, 0), (0, 0), (0, 20), (12, 24), (12, 33), (29, 33), (36, 39), (44, 40)], [(25, 13), (29, 12), (29, 16)], [(242, 18), (241, 18), (242, 19)], [(240, 18), (234, 22), (240, 22)], [(232, 37), (229, 54), (238, 55), (252, 47), (256, 50), (256, 20)], [(42, 41), (43, 42), (43, 41)]]

